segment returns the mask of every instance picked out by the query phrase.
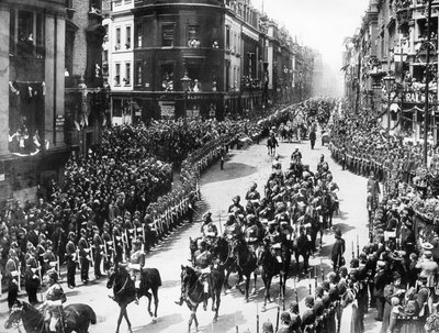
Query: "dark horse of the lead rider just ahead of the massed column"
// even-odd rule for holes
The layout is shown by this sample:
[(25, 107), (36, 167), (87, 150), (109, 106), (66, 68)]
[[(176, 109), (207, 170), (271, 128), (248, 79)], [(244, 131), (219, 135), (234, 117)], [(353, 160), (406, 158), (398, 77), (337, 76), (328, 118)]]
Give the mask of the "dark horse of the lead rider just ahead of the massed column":
[[(181, 286), (185, 290), (185, 303), (191, 310), (191, 317), (188, 322), (188, 332), (191, 331), (192, 321), (195, 321), (196, 331), (199, 331), (199, 321), (196, 319), (196, 309), (204, 301), (204, 286), (199, 278), (199, 274), (190, 266), (181, 265)], [(213, 321), (218, 320), (221, 303), (221, 289), (224, 284), (224, 269), (214, 265), (209, 279), (209, 297), (212, 298), (212, 311), (215, 312)]]

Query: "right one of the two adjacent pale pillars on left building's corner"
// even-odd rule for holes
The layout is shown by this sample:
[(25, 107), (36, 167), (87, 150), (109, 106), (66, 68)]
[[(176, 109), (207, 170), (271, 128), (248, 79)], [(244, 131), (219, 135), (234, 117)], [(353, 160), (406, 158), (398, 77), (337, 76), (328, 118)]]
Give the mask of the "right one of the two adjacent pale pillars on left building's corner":
[[(55, 111), (57, 115), (65, 114), (64, 112), (64, 100), (65, 100), (65, 45), (66, 45), (66, 20), (63, 15), (57, 15), (56, 20), (56, 56), (55, 56), (55, 85), (56, 85), (56, 96), (55, 96)], [(55, 127), (55, 145), (64, 145), (64, 127), (59, 130)]]

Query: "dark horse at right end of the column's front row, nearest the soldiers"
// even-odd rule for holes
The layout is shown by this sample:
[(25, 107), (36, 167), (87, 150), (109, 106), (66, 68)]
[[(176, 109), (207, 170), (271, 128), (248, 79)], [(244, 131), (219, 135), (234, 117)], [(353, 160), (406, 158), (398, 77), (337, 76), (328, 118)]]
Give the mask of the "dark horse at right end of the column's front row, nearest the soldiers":
[[(281, 273), (281, 265), (279, 264), (275, 256), (271, 253), (270, 246), (268, 244), (264, 244), (262, 249), (259, 252), (257, 265), (259, 267), (259, 274), (262, 278), (263, 286), (266, 287), (266, 291), (263, 293), (263, 306), (262, 306), (262, 312), (264, 312), (267, 300), (271, 302), (270, 299), (271, 280), (274, 276)], [(282, 284), (282, 281), (280, 282)]]

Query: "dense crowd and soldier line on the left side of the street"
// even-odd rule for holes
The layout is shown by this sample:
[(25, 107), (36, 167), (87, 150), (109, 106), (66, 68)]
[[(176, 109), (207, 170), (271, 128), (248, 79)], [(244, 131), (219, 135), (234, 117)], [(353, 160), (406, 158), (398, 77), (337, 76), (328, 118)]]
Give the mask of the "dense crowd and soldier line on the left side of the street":
[[(9, 307), (23, 285), (30, 302), (37, 302), (36, 290), (50, 267), (60, 271), (66, 263), (74, 288), (77, 267), (87, 284), (90, 265), (99, 279), (102, 265), (106, 270), (130, 256), (133, 240), (140, 240), (143, 251), (151, 249), (183, 221), (192, 221), (201, 173), (229, 147), (258, 141), (285, 114), (275, 110), (252, 122), (155, 121), (108, 127), (100, 148), (87, 156), (72, 154), (64, 184), (50, 180), (38, 186), (36, 202), (14, 201), (2, 211), (0, 281), (10, 291)], [(180, 169), (173, 188), (172, 166)]]

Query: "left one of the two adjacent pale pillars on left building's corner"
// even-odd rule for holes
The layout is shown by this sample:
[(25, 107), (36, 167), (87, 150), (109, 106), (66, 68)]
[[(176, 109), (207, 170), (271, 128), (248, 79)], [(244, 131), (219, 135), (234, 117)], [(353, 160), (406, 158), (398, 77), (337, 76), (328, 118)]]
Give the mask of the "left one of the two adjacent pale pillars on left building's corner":
[[(46, 62), (44, 68), (44, 80), (46, 85), (46, 96), (44, 99), (44, 138), (48, 141), (49, 148), (54, 146), (54, 108), (55, 104), (55, 16), (46, 13)], [(64, 57), (64, 53), (63, 53)], [(64, 59), (63, 59), (64, 62)], [(64, 74), (64, 69), (63, 69)], [(64, 87), (64, 82), (63, 82)], [(57, 87), (58, 89), (58, 87)]]

